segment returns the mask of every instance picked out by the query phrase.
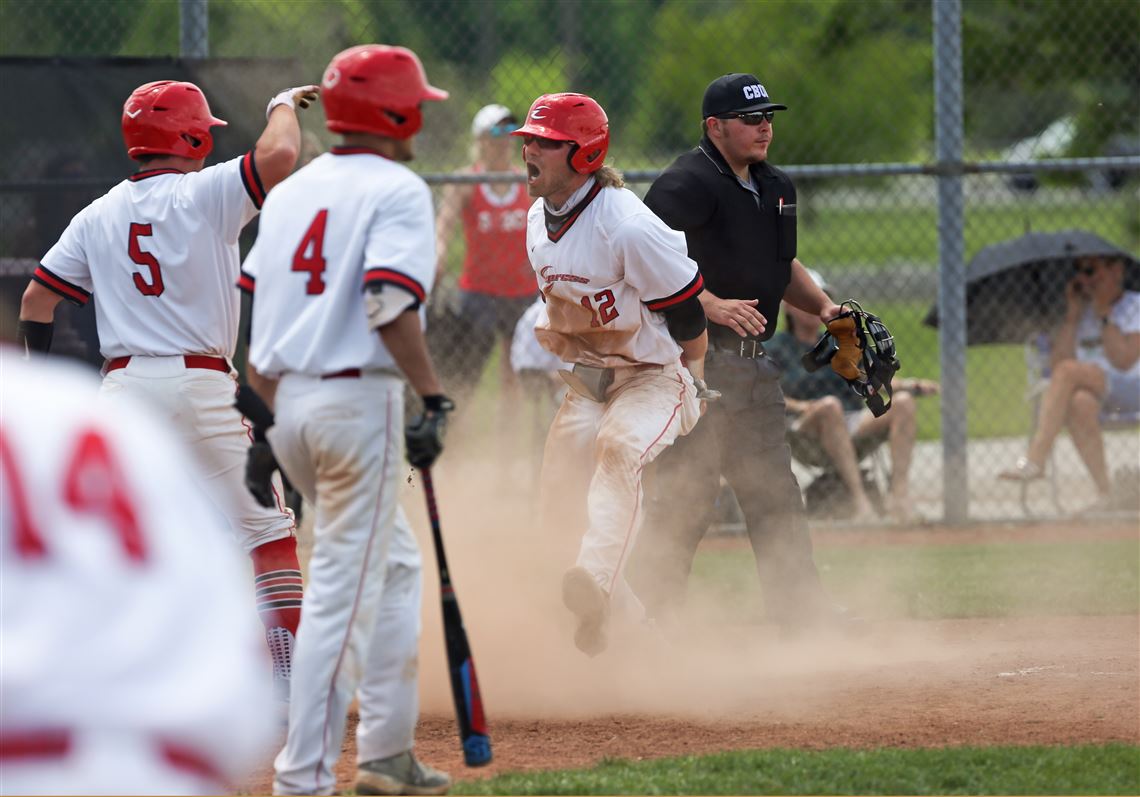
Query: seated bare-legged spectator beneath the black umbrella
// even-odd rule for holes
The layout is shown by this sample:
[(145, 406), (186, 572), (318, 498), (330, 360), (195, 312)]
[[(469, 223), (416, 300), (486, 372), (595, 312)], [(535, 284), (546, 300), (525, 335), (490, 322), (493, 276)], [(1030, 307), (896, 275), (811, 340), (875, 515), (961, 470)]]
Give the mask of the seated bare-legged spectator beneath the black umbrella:
[(1002, 479), (1032, 481), (1061, 426), (1097, 486), (1089, 509), (1109, 509), (1112, 481), (1100, 428), (1104, 410), (1140, 410), (1140, 293), (1124, 290), (1124, 261), (1082, 258), (1065, 285), (1065, 318), (1053, 334), (1052, 375), (1041, 398), (1029, 450)]

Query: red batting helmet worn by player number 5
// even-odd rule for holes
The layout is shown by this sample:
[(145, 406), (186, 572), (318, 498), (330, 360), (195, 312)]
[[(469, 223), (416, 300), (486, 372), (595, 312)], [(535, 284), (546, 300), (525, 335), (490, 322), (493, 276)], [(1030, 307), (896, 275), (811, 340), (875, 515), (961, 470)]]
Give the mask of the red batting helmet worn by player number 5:
[(194, 83), (157, 80), (135, 89), (123, 104), (123, 141), (135, 158), (205, 157), (213, 149), (212, 127), (226, 122), (210, 113), (205, 95)]

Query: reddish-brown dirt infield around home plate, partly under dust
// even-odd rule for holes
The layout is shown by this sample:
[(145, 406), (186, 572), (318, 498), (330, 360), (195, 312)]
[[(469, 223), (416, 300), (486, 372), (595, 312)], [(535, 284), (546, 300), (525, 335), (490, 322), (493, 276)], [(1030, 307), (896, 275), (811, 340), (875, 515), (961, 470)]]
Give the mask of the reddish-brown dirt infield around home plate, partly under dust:
[[(455, 547), (486, 554), (495, 545), (488, 534)], [(1123, 524), (822, 532), (815, 538), (823, 547), (1137, 534)], [(519, 554), (518, 537), (513, 540)], [(730, 749), (1140, 743), (1137, 615), (890, 621), (873, 624), (857, 640), (798, 642), (781, 641), (768, 626), (712, 624), (671, 641), (641, 631), (591, 660), (569, 642), (564, 610), (537, 586), (551, 574), (528, 578), (519, 572), (505, 579), (497, 568), (474, 572), (469, 566), (457, 583), (495, 746), (490, 766), (470, 770), (462, 763), (449, 706), (430, 561), (425, 569), (429, 609), (416, 750), (456, 779), (588, 766), (606, 757)], [(353, 726), (355, 717), (337, 766), (339, 789), (351, 787)], [(267, 794), (270, 788), (267, 762), (244, 790)]]

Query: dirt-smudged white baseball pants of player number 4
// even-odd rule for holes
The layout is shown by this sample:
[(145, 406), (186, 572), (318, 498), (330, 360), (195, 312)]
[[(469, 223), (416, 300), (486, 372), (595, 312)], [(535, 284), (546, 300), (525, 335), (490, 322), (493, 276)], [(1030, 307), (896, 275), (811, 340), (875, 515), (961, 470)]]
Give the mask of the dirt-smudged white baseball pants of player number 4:
[(412, 749), (420, 711), (421, 556), (398, 503), (404, 382), (286, 374), (276, 409), (270, 445), (316, 524), (274, 792), (332, 794), (353, 693), (361, 762)]

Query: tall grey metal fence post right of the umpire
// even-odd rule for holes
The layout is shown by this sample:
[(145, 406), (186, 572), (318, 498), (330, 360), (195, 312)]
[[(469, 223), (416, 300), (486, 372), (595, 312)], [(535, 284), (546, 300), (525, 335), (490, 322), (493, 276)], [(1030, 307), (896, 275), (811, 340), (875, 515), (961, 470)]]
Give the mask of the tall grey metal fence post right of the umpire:
[(942, 365), (943, 519), (969, 517), (966, 430), (966, 266), (962, 202), (962, 5), (934, 0), (935, 151), (938, 164), (938, 340)]

